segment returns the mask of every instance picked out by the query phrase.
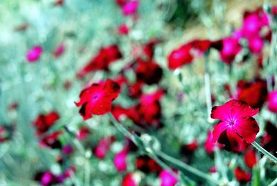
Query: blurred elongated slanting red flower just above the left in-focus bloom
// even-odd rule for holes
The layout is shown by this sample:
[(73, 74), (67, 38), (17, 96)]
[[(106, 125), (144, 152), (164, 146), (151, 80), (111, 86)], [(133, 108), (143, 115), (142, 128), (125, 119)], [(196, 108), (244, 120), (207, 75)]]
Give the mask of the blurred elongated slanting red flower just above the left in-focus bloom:
[(109, 64), (112, 62), (115, 62), (117, 59), (120, 59), (122, 57), (121, 52), (116, 45), (106, 46), (105, 48), (101, 48), (98, 52), (98, 55), (93, 57), (91, 61), (82, 68), (77, 76), (79, 78), (84, 77), (87, 75), (87, 73), (93, 72), (93, 71), (99, 71), (109, 70)]

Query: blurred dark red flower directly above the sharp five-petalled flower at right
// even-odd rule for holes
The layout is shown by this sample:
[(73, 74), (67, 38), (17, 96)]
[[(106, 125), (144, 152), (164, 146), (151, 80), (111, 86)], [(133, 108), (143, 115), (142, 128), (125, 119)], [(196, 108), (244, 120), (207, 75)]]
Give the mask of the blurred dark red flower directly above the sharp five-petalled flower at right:
[(237, 98), (247, 102), (253, 108), (261, 108), (267, 99), (267, 82), (263, 80), (254, 82), (240, 80), (238, 82)]

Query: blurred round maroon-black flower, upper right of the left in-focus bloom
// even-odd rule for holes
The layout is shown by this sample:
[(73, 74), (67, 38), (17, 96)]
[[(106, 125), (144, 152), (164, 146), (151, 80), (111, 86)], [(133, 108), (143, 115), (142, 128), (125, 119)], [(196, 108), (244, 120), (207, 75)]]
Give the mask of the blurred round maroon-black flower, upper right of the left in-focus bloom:
[(151, 61), (143, 62), (141, 59), (138, 59), (134, 71), (136, 80), (150, 85), (157, 84), (163, 75), (163, 71), (157, 63)]

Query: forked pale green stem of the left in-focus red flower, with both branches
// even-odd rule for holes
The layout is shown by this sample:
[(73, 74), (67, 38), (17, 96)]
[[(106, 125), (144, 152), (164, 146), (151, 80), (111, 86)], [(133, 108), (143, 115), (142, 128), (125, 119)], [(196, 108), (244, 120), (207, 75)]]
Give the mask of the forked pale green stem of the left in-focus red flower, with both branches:
[[(125, 136), (127, 136), (129, 139), (131, 139), (136, 145), (138, 145), (138, 142), (136, 141), (136, 138), (132, 135), (132, 133), (130, 133), (129, 131), (127, 131), (127, 129), (125, 129), (125, 127), (122, 126), (122, 124), (120, 124), (115, 118), (114, 115), (112, 115), (111, 113), (108, 113), (109, 118), (111, 119), (111, 121), (114, 123), (114, 126), (121, 132), (123, 133)], [(213, 178), (211, 178), (211, 176), (209, 176), (208, 174), (205, 174), (202, 171), (199, 171), (198, 169), (195, 169), (194, 167), (190, 167), (190, 165), (187, 165), (184, 162), (181, 162), (180, 160), (177, 160), (175, 158), (172, 158), (171, 156), (164, 154), (163, 152), (159, 151), (157, 152), (157, 154), (154, 153), (154, 151), (149, 151), (147, 149), (145, 149), (145, 147), (143, 147), (145, 151), (148, 152), (148, 156), (150, 156), (151, 158), (153, 158), (154, 160), (157, 161), (157, 163), (159, 165), (161, 165), (161, 167), (163, 167), (164, 169), (167, 169), (170, 174), (172, 174), (173, 176), (175, 176), (175, 173), (170, 169), (170, 167), (168, 167), (168, 165), (166, 165), (163, 161), (161, 161), (158, 156), (160, 156), (161, 158), (167, 160), (168, 162), (172, 162), (172, 164), (178, 165), (179, 167), (183, 168), (184, 170), (190, 172), (190, 174), (193, 174), (199, 178), (202, 178), (204, 180), (208, 180), (210, 183), (213, 183), (213, 185), (217, 185), (216, 180), (213, 180)], [(178, 178), (175, 176), (175, 178)]]

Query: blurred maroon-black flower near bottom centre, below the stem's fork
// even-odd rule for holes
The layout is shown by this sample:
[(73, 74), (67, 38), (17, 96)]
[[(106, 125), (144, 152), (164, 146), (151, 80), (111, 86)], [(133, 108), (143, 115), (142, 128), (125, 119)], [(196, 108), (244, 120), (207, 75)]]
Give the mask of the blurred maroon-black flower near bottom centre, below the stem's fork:
[(145, 172), (146, 174), (154, 172), (159, 174), (161, 166), (155, 160), (148, 156), (139, 156), (136, 158), (136, 169)]

